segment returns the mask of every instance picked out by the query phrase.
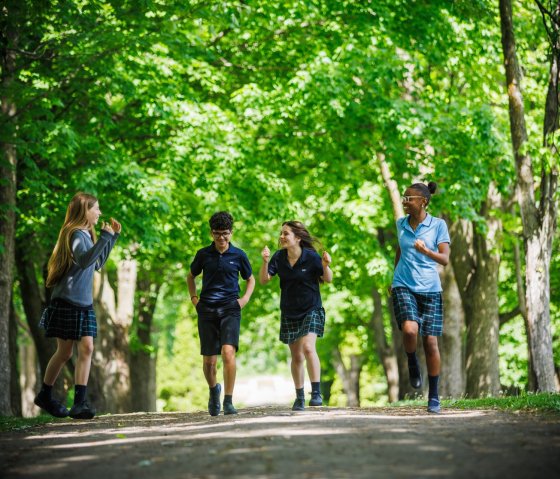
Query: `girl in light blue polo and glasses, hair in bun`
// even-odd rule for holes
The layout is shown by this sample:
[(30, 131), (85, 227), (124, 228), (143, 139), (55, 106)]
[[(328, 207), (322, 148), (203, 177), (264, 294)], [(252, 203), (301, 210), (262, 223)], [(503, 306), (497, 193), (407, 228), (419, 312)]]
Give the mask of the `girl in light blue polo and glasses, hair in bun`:
[(437, 337), (443, 334), (443, 300), (437, 265), (449, 262), (449, 232), (445, 221), (427, 213), (437, 185), (415, 183), (402, 198), (407, 216), (397, 220), (399, 246), (391, 285), (393, 308), (408, 356), (412, 387), (422, 387), (416, 357), (418, 333), (422, 336), (428, 367), (428, 412), (439, 413), (440, 356)]

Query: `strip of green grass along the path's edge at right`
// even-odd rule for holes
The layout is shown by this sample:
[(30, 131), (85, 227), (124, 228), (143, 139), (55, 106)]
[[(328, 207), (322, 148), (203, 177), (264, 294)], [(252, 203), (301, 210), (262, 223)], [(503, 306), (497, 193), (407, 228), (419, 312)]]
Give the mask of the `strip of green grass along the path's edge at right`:
[[(395, 406), (425, 406), (426, 400), (399, 401)], [(502, 411), (546, 412), (560, 415), (560, 394), (539, 393), (519, 396), (486, 397), (481, 399), (444, 399), (442, 407), (449, 409), (498, 409)]]

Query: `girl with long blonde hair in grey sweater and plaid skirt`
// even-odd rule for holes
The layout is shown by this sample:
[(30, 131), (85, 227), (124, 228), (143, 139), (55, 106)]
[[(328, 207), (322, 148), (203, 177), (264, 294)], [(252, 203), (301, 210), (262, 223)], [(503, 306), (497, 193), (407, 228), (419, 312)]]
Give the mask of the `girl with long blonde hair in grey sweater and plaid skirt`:
[[(51, 357), (41, 391), (35, 404), (55, 417), (91, 419), (95, 409), (86, 400), (87, 382), (93, 354), (97, 321), (93, 310), (93, 274), (100, 270), (121, 231), (118, 221), (103, 223), (97, 241), (95, 225), (101, 210), (95, 196), (77, 193), (66, 210), (58, 241), (48, 263), (47, 288), (52, 289), (49, 306), (39, 323), (46, 336), (56, 338), (57, 349)], [(68, 411), (52, 397), (52, 386), (76, 343), (74, 405)]]

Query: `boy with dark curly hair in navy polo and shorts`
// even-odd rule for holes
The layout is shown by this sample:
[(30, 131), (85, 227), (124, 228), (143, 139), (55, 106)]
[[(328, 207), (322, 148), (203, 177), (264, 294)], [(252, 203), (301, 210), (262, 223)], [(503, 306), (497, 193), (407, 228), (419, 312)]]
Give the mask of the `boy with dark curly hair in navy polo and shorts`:
[[(237, 414), (232, 401), (235, 353), (239, 348), (241, 309), (253, 294), (255, 278), (245, 252), (230, 243), (233, 217), (226, 211), (220, 211), (212, 215), (209, 223), (214, 241), (197, 251), (187, 275), (187, 285), (198, 314), (202, 369), (210, 388), (208, 412), (217, 416), (220, 414), (222, 390), (216, 379), (218, 354), (222, 355), (224, 363), (224, 414)], [(200, 273), (203, 274), (199, 298), (195, 278)], [(247, 281), (242, 297), (239, 297), (239, 274)]]

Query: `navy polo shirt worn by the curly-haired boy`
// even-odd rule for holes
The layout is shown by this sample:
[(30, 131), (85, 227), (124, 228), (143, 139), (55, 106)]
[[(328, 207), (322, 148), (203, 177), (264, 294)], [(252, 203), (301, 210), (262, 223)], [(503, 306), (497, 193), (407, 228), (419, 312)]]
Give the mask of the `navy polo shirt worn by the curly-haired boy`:
[(219, 304), (239, 298), (239, 278), (247, 280), (253, 274), (251, 263), (245, 252), (231, 243), (220, 253), (214, 243), (196, 252), (191, 263), (193, 276), (202, 275), (200, 300), (208, 304)]

